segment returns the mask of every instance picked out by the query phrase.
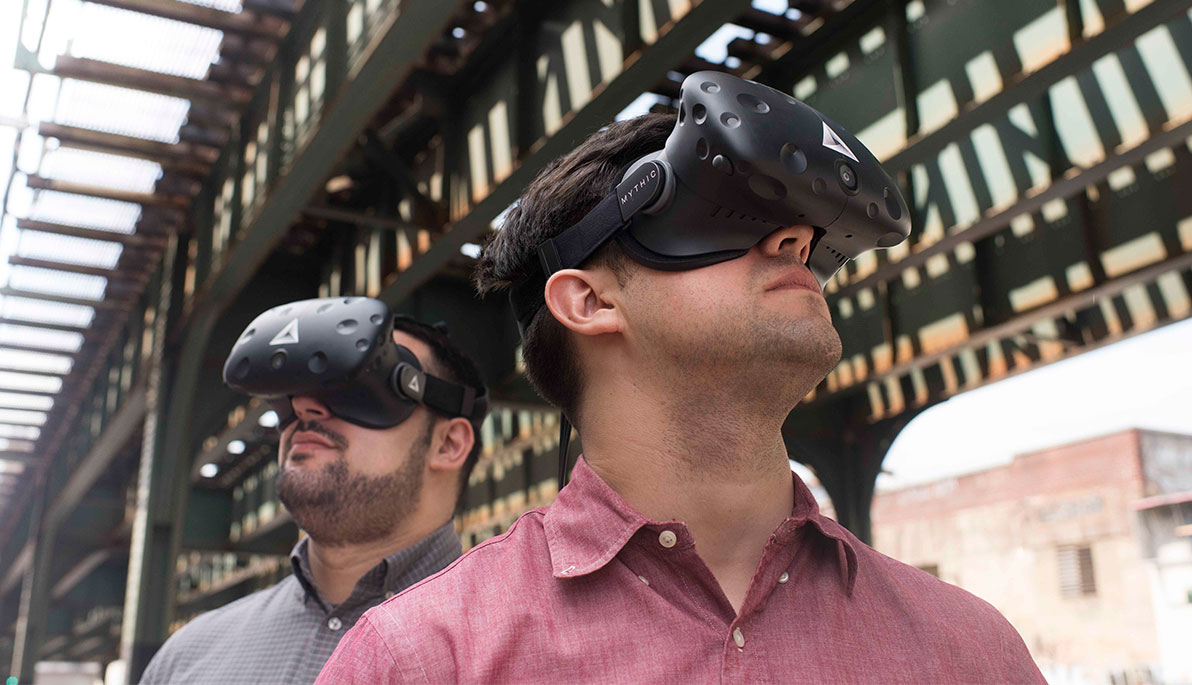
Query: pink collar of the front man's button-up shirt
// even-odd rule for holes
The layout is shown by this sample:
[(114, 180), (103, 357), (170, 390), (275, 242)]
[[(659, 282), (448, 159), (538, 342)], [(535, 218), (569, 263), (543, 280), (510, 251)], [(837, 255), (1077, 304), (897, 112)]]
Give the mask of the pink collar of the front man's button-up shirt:
[[(855, 537), (839, 523), (824, 516), (811, 490), (790, 473), (795, 503), (790, 516), (775, 530), (783, 544), (794, 542), (799, 529), (812, 530), (834, 541), (840, 581), (849, 594), (857, 581)], [(660, 525), (638, 513), (596, 474), (583, 456), (576, 462), (571, 482), (559, 492), (544, 521), (551, 569), (555, 578), (577, 578), (603, 568), (645, 525)]]

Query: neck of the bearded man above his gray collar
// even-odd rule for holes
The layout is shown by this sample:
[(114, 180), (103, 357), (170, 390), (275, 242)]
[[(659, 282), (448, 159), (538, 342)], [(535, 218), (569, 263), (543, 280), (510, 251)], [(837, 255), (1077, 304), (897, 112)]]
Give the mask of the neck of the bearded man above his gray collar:
[(399, 530), (381, 540), (365, 543), (319, 544), (313, 537), (308, 546), (310, 573), (315, 587), (324, 600), (341, 604), (356, 583), (381, 559), (396, 554), (434, 533), (443, 522), (417, 530)]

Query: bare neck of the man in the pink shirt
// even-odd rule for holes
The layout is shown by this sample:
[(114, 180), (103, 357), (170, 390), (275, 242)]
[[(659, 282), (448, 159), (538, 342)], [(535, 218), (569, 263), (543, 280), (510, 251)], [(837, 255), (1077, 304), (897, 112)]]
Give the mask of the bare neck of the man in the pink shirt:
[(794, 401), (733, 374), (712, 375), (722, 378), (700, 379), (700, 387), (681, 373), (594, 384), (581, 434), (588, 463), (629, 506), (688, 525), (739, 610), (765, 542), (794, 504), (782, 442)]

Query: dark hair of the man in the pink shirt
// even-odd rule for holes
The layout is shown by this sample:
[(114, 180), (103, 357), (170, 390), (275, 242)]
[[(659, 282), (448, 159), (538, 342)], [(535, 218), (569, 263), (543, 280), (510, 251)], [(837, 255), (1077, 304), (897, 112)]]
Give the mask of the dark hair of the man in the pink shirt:
[[(530, 275), (538, 264), (538, 245), (579, 222), (611, 192), (629, 163), (662, 150), (673, 127), (673, 114), (609, 124), (547, 164), (485, 244), (476, 268), (477, 291), (488, 294)], [(609, 241), (582, 266), (608, 267), (623, 282), (628, 263), (621, 245)], [(582, 367), (567, 329), (545, 306), (522, 332), (522, 357), (526, 376), (539, 394), (575, 422), (584, 384)]]

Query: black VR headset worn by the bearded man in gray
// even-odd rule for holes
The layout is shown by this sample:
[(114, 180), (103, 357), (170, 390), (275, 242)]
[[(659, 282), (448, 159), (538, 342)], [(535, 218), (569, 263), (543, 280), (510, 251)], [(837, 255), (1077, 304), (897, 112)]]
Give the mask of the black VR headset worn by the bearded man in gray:
[(485, 388), (422, 370), (393, 341), (393, 317), (380, 300), (321, 298), (273, 307), (253, 319), (228, 355), (224, 382), (267, 398), (278, 426), (294, 419), (291, 398), (313, 397), (337, 417), (392, 428), (426, 405), (473, 423), (489, 410)]

